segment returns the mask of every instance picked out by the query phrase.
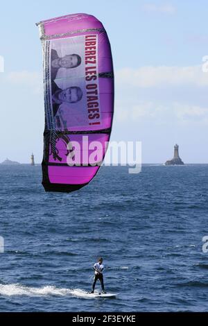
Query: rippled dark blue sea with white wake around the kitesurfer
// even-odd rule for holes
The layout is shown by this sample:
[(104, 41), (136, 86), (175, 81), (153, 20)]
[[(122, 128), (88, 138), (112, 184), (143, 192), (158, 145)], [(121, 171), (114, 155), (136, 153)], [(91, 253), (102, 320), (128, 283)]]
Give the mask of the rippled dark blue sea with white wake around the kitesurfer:
[[(0, 180), (0, 311), (208, 311), (208, 165), (103, 166), (71, 194), (41, 166)], [(99, 256), (117, 298), (87, 294)]]

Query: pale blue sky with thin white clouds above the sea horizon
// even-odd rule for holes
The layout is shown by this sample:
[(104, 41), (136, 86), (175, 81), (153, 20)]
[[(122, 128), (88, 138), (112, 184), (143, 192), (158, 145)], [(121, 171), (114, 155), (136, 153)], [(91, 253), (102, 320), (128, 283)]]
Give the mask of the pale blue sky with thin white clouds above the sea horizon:
[(198, 1), (3, 1), (0, 73), (1, 151), (42, 161), (42, 52), (35, 22), (87, 12), (112, 45), (115, 115), (112, 140), (142, 141), (143, 162), (164, 162), (180, 145), (184, 162), (208, 162), (208, 3)]

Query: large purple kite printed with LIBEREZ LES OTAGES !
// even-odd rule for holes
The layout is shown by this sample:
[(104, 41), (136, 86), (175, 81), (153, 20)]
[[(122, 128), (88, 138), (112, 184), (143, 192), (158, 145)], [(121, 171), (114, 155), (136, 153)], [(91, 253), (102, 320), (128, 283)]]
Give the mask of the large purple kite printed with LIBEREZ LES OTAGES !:
[(46, 191), (87, 185), (107, 151), (114, 110), (110, 42), (92, 15), (48, 19), (40, 28), (44, 62)]

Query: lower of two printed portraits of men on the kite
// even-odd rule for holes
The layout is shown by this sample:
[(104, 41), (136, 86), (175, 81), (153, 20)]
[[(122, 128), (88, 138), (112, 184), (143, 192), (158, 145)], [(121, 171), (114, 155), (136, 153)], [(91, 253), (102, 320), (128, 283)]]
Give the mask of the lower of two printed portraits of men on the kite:
[(58, 112), (58, 109), (63, 103), (76, 103), (83, 97), (83, 91), (78, 86), (67, 87), (61, 89), (56, 83), (51, 81), (51, 92), (53, 102), (53, 117)]

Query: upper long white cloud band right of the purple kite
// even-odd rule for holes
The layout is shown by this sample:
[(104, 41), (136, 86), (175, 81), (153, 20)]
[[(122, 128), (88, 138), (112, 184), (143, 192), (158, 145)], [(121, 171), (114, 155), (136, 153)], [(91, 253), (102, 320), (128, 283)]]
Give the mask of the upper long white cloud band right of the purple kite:
[(118, 85), (131, 87), (161, 87), (193, 85), (208, 86), (208, 74), (202, 72), (202, 66), (192, 67), (141, 67), (138, 69), (120, 69), (116, 72)]

